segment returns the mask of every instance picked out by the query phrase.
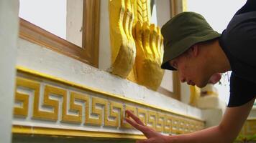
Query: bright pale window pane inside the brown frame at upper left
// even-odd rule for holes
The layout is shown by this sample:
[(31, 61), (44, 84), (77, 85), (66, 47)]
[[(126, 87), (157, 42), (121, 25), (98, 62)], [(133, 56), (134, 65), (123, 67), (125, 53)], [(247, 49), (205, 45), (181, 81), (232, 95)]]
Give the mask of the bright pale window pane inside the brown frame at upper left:
[(20, 0), (19, 17), (82, 45), (83, 0)]

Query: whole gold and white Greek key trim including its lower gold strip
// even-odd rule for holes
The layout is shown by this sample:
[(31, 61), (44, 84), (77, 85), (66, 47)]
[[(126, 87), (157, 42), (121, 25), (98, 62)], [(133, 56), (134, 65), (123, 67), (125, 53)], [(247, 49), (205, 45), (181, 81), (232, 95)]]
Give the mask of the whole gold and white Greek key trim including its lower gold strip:
[(125, 122), (127, 109), (164, 134), (185, 134), (205, 126), (201, 119), (17, 66), (14, 134), (142, 139)]

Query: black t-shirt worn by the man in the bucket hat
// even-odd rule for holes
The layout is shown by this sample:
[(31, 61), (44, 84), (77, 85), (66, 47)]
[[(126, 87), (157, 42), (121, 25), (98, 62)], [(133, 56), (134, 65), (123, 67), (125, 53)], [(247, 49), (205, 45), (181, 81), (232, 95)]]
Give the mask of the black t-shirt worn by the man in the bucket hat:
[(256, 0), (248, 0), (219, 39), (232, 69), (228, 107), (256, 97)]

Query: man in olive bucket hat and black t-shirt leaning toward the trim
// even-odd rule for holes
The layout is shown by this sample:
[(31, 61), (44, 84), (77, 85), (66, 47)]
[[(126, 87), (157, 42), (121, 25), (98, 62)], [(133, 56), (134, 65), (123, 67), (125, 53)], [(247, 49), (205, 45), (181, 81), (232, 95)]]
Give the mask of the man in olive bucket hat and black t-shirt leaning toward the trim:
[(213, 74), (232, 71), (229, 104), (218, 126), (173, 136), (155, 132), (127, 111), (126, 121), (147, 137), (138, 142), (233, 142), (256, 97), (256, 1), (248, 0), (222, 34), (193, 12), (178, 14), (161, 32), (162, 68), (177, 70), (181, 82), (204, 87)]

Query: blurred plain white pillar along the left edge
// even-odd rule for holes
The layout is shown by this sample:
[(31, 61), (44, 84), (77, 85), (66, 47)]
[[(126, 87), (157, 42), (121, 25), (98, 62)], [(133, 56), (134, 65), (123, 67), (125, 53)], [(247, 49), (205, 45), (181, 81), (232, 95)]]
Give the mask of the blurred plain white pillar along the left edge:
[(0, 0), (0, 142), (12, 138), (19, 0)]

